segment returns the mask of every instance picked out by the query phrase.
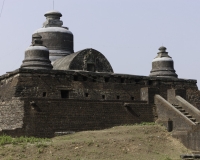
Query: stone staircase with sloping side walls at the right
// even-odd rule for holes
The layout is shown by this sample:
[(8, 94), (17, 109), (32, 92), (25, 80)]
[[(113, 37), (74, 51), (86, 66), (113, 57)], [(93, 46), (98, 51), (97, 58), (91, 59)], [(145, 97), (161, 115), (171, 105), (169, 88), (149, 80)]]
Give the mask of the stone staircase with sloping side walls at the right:
[(200, 151), (200, 110), (180, 96), (175, 98), (165, 100), (162, 96), (155, 95), (158, 115), (156, 121), (168, 128), (172, 136), (187, 148)]

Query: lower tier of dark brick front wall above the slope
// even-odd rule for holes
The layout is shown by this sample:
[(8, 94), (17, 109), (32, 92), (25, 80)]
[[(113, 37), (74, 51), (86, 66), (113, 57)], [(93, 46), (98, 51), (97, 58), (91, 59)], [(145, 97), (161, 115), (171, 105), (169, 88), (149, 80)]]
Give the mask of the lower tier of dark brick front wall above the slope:
[[(34, 106), (25, 99), (25, 134), (52, 137), (55, 132), (104, 129), (117, 125), (153, 122), (153, 108), (145, 102), (42, 100)], [(134, 114), (136, 113), (136, 114)]]

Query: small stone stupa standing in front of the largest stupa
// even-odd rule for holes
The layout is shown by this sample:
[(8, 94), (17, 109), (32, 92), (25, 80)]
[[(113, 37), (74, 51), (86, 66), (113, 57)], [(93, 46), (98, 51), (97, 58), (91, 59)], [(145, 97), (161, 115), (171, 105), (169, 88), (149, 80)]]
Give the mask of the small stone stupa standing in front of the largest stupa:
[(25, 59), (21, 68), (52, 69), (53, 66), (49, 60), (49, 50), (42, 45), (42, 37), (35, 34), (32, 38), (32, 45), (25, 51)]

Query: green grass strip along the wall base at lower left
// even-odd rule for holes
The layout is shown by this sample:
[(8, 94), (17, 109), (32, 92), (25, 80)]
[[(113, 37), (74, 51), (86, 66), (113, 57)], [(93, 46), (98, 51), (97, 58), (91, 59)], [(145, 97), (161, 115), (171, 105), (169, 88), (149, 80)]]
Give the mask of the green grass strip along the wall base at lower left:
[(17, 138), (13, 138), (8, 135), (1, 135), (0, 136), (0, 145), (6, 145), (6, 144), (27, 144), (27, 143), (44, 143), (44, 142), (50, 142), (51, 140), (48, 138), (36, 138), (36, 137), (26, 137), (21, 136)]

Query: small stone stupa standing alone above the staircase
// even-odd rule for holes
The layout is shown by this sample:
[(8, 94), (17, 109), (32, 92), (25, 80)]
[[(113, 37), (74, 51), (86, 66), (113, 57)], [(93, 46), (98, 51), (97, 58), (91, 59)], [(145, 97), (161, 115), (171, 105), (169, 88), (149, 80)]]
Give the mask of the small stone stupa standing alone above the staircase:
[(149, 76), (154, 77), (168, 77), (168, 78), (177, 78), (178, 75), (174, 70), (174, 62), (172, 58), (166, 52), (165, 47), (160, 47), (158, 55), (152, 61), (152, 70)]

